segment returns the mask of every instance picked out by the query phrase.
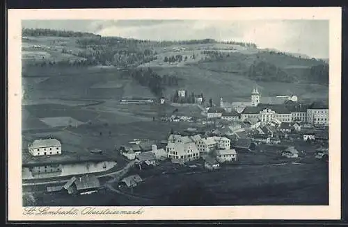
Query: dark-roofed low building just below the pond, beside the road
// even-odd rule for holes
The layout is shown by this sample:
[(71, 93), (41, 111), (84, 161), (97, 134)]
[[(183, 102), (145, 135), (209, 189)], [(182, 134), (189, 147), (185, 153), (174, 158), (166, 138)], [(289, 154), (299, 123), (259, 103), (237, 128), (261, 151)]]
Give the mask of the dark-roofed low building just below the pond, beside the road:
[(76, 177), (73, 176), (68, 180), (63, 188), (68, 191), (68, 194), (86, 194), (90, 192), (97, 192), (100, 187), (100, 181), (96, 176), (85, 175)]

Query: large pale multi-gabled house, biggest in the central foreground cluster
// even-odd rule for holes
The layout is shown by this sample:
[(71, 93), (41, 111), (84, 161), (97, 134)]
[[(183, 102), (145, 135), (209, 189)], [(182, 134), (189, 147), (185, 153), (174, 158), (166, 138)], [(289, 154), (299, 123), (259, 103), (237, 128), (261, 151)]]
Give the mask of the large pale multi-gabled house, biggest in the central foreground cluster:
[(169, 136), (166, 153), (168, 158), (175, 163), (184, 163), (200, 157), (195, 142), (190, 137), (181, 135)]

